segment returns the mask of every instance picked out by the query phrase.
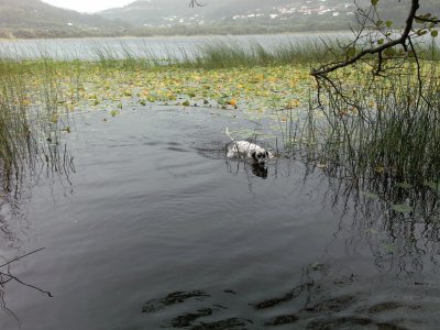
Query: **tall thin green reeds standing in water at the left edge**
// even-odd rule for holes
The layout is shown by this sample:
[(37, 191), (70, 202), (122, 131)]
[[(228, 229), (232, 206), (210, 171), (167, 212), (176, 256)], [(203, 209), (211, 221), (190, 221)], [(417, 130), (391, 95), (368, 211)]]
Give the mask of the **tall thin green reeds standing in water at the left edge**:
[[(73, 64), (68, 68), (72, 73)], [(46, 164), (65, 169), (58, 153), (67, 120), (59, 69), (48, 58), (0, 59), (0, 183), (3, 198), (19, 194), (23, 177)], [(73, 75), (75, 77), (75, 75)]]

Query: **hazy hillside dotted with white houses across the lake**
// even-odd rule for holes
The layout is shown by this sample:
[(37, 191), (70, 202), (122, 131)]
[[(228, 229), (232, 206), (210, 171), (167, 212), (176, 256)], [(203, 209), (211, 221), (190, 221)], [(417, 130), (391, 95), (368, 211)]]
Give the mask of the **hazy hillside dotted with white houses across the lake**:
[[(200, 2), (200, 1), (199, 1)], [(120, 20), (134, 29), (172, 28), (199, 31), (213, 26), (246, 33), (258, 26), (262, 31), (329, 31), (348, 30), (355, 22), (353, 0), (202, 0), (204, 7), (189, 8), (189, 0), (138, 0), (129, 6), (99, 12), (110, 20)], [(358, 0), (366, 8), (371, 0)], [(410, 0), (380, 1), (378, 11), (386, 20), (403, 25)], [(439, 13), (438, 0), (424, 0), (421, 11)], [(177, 28), (176, 28), (177, 26)]]

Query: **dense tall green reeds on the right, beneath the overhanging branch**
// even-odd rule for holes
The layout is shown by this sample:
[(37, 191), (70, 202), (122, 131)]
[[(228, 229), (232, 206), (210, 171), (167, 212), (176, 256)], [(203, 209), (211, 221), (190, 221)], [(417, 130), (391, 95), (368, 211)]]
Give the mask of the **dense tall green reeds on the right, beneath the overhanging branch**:
[(301, 121), (286, 124), (287, 151), (366, 190), (440, 194), (440, 74), (436, 57), (420, 64), (338, 72)]

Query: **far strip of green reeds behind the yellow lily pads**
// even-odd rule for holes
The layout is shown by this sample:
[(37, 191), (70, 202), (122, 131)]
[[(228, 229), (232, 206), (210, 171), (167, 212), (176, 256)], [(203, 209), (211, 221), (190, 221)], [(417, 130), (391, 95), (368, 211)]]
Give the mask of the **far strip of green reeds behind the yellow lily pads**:
[(334, 58), (336, 41), (305, 40), (274, 45), (260, 42), (213, 41), (194, 48), (174, 47), (151, 50), (146, 44), (132, 48), (121, 43), (117, 48), (106, 44), (91, 44), (90, 58), (103, 67), (219, 69), (230, 67), (277, 66), (315, 64)]

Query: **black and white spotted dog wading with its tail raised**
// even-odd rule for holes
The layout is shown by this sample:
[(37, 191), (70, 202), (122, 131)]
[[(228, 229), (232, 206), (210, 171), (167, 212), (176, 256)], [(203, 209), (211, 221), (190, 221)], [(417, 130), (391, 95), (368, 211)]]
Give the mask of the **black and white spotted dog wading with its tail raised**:
[(228, 147), (227, 157), (243, 157), (253, 160), (255, 164), (264, 165), (266, 161), (273, 157), (273, 155), (264, 147), (248, 141), (237, 141), (230, 134), (227, 128), (227, 135), (231, 140), (231, 144)]

